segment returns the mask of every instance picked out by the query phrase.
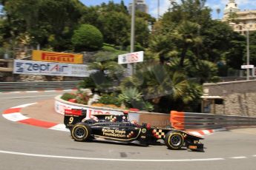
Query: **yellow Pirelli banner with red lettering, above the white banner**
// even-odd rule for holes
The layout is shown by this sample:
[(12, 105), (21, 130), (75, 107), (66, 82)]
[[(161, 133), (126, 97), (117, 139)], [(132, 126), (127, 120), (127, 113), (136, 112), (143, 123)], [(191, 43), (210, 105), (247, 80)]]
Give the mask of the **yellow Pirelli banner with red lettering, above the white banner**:
[(32, 60), (56, 62), (56, 63), (82, 64), (82, 55), (62, 53), (62, 52), (47, 52), (42, 50), (33, 50)]

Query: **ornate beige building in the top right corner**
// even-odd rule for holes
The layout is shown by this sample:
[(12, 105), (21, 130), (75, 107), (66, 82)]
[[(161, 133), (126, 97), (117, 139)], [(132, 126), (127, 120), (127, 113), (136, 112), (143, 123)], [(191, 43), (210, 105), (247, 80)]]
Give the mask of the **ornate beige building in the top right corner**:
[(240, 10), (235, 0), (229, 0), (224, 9), (223, 21), (228, 21), (234, 14), (234, 21), (229, 24), (237, 33), (245, 35), (247, 31), (256, 31), (256, 10)]

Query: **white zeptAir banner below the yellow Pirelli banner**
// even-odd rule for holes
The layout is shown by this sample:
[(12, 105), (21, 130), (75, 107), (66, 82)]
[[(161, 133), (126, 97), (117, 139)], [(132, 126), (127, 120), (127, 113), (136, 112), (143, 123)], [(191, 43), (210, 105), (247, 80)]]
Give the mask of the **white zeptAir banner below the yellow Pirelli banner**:
[(90, 75), (87, 65), (25, 60), (14, 60), (13, 73), (32, 75), (62, 75), (72, 77), (88, 77)]

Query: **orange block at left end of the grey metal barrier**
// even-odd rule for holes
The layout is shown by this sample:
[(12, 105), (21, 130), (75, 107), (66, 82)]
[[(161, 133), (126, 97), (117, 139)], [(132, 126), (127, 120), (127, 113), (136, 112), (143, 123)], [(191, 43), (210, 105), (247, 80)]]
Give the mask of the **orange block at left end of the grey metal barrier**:
[(184, 112), (171, 111), (171, 126), (175, 129), (184, 129)]

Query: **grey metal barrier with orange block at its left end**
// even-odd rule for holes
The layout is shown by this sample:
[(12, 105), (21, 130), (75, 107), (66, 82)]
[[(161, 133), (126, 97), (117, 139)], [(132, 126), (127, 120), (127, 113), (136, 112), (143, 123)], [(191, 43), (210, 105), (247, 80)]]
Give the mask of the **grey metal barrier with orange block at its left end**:
[(170, 122), (175, 129), (219, 129), (256, 126), (256, 118), (177, 111), (171, 111)]

